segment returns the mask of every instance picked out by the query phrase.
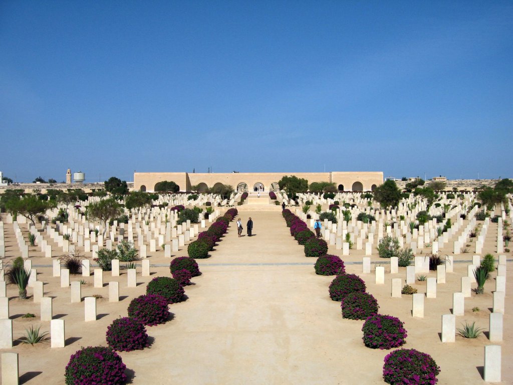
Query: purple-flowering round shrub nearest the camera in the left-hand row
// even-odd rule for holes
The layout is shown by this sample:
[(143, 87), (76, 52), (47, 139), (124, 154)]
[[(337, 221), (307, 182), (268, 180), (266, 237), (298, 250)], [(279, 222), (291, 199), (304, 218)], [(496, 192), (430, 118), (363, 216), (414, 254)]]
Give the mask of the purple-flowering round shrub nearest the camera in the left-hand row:
[(71, 355), (64, 378), (66, 385), (117, 385), (126, 381), (125, 369), (112, 349), (87, 347)]

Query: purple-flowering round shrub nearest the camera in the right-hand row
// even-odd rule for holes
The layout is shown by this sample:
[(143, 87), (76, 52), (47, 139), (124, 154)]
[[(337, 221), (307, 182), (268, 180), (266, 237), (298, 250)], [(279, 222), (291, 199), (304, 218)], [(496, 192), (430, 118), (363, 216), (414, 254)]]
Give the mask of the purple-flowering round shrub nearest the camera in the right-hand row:
[(415, 349), (394, 350), (385, 357), (383, 379), (390, 384), (433, 385), (440, 367), (429, 354)]

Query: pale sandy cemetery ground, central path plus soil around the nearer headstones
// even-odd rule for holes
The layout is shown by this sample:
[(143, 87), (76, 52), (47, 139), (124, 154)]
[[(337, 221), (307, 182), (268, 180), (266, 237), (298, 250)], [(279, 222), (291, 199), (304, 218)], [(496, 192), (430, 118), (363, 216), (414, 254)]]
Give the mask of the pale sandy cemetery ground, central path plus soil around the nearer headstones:
[[(172, 320), (148, 328), (152, 344), (142, 351), (121, 353), (133, 384), (374, 384), (383, 383), (383, 358), (389, 351), (371, 350), (362, 341), (363, 321), (342, 318), (340, 303), (331, 301), (328, 285), (333, 277), (315, 275), (313, 258), (305, 258), (303, 247), (289, 235), (280, 211), (250, 211), (240, 209), (243, 223), (251, 216), (253, 237), (238, 238), (234, 222), (228, 234), (215, 247), (211, 257), (199, 260), (202, 276), (186, 287), (188, 299), (170, 305)], [(242, 207), (244, 209), (244, 207)], [(6, 224), (8, 249), (13, 246), (12, 226)], [(497, 227), (488, 231), (484, 253), (492, 251)], [(35, 250), (35, 248), (34, 248)], [(341, 255), (334, 246), (330, 254)], [(442, 250), (442, 254), (448, 251)], [(177, 256), (185, 255), (183, 249)], [(98, 320), (84, 322), (84, 303), (70, 303), (70, 290), (60, 288), (60, 279), (51, 277), (49, 259), (31, 251), (38, 279), (45, 281), (45, 296), (54, 297), (54, 318), (66, 321), (67, 346), (51, 349), (49, 344), (16, 344), (19, 353), (21, 383), (63, 384), (64, 369), (71, 354), (82, 346), (105, 345), (105, 332), (113, 319), (126, 316), (130, 300), (145, 291), (151, 278), (137, 279), (136, 288), (127, 287), (127, 276), (104, 274), (105, 286), (92, 287), (93, 277), (84, 278), (83, 296), (102, 294), (98, 301)], [(455, 263), (455, 273), (447, 275), (447, 283), (438, 285), (436, 299), (425, 299), (425, 317), (411, 317), (411, 297), (390, 298), (391, 278), (405, 278), (404, 268), (390, 275), (385, 268), (385, 284), (374, 284), (373, 274), (364, 275), (360, 262), (363, 251), (352, 251), (343, 257), (346, 271), (359, 274), (368, 292), (379, 301), (380, 313), (399, 317), (408, 331), (405, 348), (415, 348), (430, 354), (440, 365), (440, 384), (481, 384), (484, 346), (490, 344), (486, 335), (476, 340), (457, 337), (455, 343), (442, 344), (441, 315), (450, 314), (452, 293), (460, 291), (460, 278), (466, 275), (467, 263)], [(173, 255), (173, 257), (175, 257)], [(471, 254), (455, 257), (471, 260)], [(508, 254), (508, 260), (511, 255)], [(380, 262), (374, 255), (373, 261)], [(150, 257), (152, 264), (168, 264), (163, 252)], [(511, 262), (508, 262), (511, 269)], [(153, 267), (157, 275), (169, 276), (169, 268)], [(431, 272), (429, 276), (436, 276)], [(476, 321), (488, 331), (488, 316), (492, 306), (491, 291), (495, 275), (485, 285), (485, 294), (465, 299), (462, 322)], [(80, 280), (82, 277), (72, 277)], [(120, 281), (118, 303), (108, 302), (108, 282)], [(415, 285), (425, 292), (425, 282)], [(474, 284), (475, 286), (475, 284)], [(29, 289), (29, 295), (31, 290)], [(14, 338), (24, 335), (30, 324), (40, 322), (40, 305), (29, 298), (17, 299), (17, 290), (8, 285)], [(504, 341), (502, 345), (502, 383), (513, 383), (513, 321), (511, 318), (511, 282), (507, 282)], [(472, 307), (481, 311), (474, 313)], [(21, 315), (31, 312), (35, 319)]]

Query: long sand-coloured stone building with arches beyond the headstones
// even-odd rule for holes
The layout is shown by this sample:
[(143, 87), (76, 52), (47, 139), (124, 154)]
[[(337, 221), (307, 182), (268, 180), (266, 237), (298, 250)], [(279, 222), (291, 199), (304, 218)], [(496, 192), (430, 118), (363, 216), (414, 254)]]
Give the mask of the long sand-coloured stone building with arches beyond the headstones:
[(283, 176), (295, 175), (308, 183), (333, 182), (339, 191), (372, 191), (383, 183), (382, 171), (331, 171), (331, 172), (134, 172), (134, 190), (154, 191), (155, 184), (173, 181), (180, 191), (191, 191), (198, 186), (200, 191), (217, 183), (229, 184), (239, 191), (251, 191), (262, 186), (264, 191), (278, 190), (278, 181)]

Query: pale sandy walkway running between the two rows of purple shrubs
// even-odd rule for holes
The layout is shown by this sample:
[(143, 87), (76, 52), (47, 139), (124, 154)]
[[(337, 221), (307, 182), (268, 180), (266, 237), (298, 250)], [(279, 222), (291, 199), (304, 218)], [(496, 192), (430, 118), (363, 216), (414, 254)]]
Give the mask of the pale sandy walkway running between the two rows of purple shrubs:
[(240, 214), (244, 233), (253, 218), (254, 236), (238, 238), (230, 224), (200, 261), (189, 299), (171, 305), (175, 318), (149, 328), (152, 347), (123, 355), (133, 383), (382, 383), (383, 353), (375, 365), (349, 359), (350, 345), (362, 345), (361, 322), (341, 330), (340, 305), (327, 294), (332, 277), (315, 275), (281, 212)]

